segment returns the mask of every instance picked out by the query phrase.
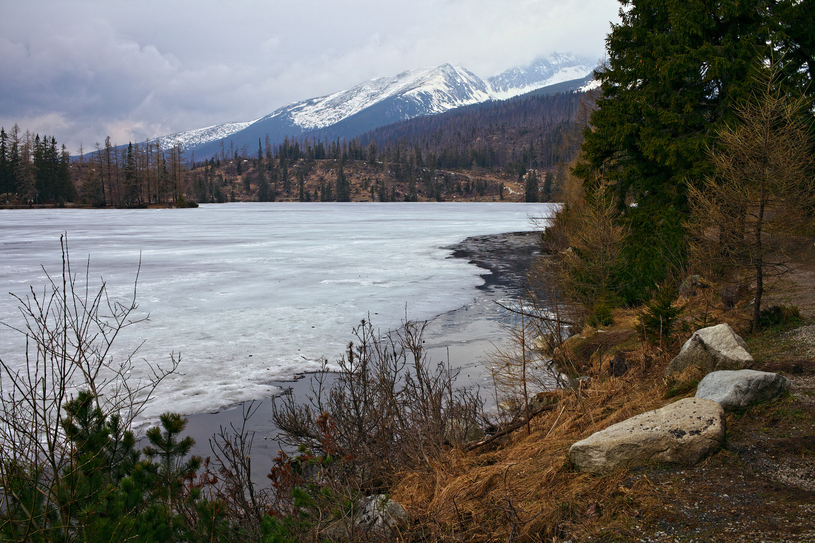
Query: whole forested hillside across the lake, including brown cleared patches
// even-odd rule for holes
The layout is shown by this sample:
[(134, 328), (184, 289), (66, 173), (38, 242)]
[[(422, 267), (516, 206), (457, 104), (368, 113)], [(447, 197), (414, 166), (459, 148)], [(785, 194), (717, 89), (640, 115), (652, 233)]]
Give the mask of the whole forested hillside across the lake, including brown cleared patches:
[[(160, 140), (110, 138), (71, 159), (54, 138), (2, 133), (9, 204), (150, 207), (227, 201), (550, 201), (558, 165), (579, 148), (591, 93), (531, 95), (460, 107), (345, 139), (222, 141), (196, 161)], [(527, 170), (529, 171), (527, 173)], [(562, 174), (561, 176), (562, 177)], [(540, 180), (540, 182), (539, 182)]]

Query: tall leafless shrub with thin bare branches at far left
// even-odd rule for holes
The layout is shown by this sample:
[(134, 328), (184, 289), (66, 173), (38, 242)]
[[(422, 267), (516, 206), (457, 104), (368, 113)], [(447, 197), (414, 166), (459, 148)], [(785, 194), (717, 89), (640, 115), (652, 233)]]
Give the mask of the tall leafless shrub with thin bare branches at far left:
[[(67, 518), (65, 512), (74, 497), (60, 486), (76, 444), (68, 440), (62, 424), (66, 402), (80, 391), (90, 391), (102, 420), (115, 419), (119, 429), (130, 430), (158, 384), (174, 373), (181, 358), (171, 354), (166, 368), (144, 362), (148, 378), (131, 379), (136, 351), (117, 360), (112, 348), (121, 331), (147, 318), (131, 319), (138, 307), (138, 273), (133, 297), (113, 300), (104, 281), (92, 289), (90, 261), (84, 281), (73, 273), (67, 237), (60, 237), (60, 245), (61, 276), (52, 277), (43, 268), (46, 286), (42, 293), (31, 287), (28, 296), (15, 296), (24, 325), (0, 323), (26, 338), (23, 368), (0, 359), (0, 482), (6, 489), (4, 507), (11, 499), (20, 500), (10, 495), (20, 485), (15, 487), (9, 480), (28, 479), (42, 497), (43, 505), (38, 507), (42, 515), (59, 511)], [(30, 517), (33, 525), (45, 519), (33, 511)]]

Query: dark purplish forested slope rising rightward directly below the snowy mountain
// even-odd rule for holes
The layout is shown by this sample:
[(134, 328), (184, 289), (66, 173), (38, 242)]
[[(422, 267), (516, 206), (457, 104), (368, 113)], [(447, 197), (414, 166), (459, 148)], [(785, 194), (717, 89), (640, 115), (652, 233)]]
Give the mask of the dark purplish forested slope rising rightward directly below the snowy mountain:
[[(409, 152), (421, 152), (422, 160), (444, 169), (478, 166), (506, 168), (523, 166), (552, 169), (568, 163), (579, 149), (581, 104), (591, 99), (585, 93), (524, 96), (458, 107), (439, 115), (417, 117), (381, 126), (355, 138), (318, 139), (308, 135), (285, 138), (270, 144), (268, 159), (371, 160), (391, 163)], [(240, 149), (221, 142), (220, 160), (237, 154), (249, 159), (248, 146)], [(196, 162), (196, 167), (205, 162)]]

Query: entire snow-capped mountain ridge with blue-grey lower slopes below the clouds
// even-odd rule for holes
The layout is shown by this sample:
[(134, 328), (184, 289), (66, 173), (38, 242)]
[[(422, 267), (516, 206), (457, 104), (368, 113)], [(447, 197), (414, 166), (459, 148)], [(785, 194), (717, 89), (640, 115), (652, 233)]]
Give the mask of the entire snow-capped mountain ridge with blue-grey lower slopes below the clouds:
[(287, 136), (353, 137), (397, 120), (435, 115), (454, 107), (508, 99), (562, 81), (587, 77), (594, 68), (588, 58), (555, 53), (522, 68), (512, 68), (487, 81), (465, 68), (443, 64), (377, 77), (350, 89), (293, 102), (267, 116), (245, 123), (225, 123), (161, 138), (180, 142), (196, 156), (214, 155), (224, 138), (237, 147), (254, 148), (266, 135), (272, 142)]

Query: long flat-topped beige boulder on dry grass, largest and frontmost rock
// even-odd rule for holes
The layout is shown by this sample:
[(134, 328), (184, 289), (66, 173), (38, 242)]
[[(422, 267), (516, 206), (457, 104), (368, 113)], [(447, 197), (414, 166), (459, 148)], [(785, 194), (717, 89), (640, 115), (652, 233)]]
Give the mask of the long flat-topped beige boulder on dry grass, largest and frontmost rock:
[(725, 411), (715, 401), (683, 398), (597, 431), (571, 446), (580, 471), (677, 462), (692, 466), (715, 453), (725, 437)]

